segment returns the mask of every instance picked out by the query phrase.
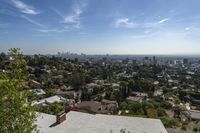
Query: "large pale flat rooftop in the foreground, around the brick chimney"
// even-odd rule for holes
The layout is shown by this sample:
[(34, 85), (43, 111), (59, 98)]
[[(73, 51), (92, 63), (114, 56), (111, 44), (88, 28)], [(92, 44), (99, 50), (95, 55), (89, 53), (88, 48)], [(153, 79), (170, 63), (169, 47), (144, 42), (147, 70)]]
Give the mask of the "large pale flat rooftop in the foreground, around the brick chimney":
[(159, 119), (116, 115), (87, 114), (70, 111), (66, 120), (56, 124), (56, 116), (38, 113), (36, 124), (42, 133), (167, 133)]

